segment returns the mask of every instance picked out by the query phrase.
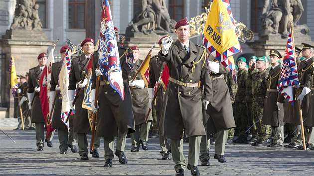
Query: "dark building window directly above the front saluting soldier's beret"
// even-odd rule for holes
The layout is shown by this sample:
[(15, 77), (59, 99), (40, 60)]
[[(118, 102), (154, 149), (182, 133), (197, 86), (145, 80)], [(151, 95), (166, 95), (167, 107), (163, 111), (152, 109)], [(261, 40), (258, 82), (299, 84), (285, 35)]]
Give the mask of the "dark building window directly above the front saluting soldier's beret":
[(169, 0), (169, 14), (171, 19), (179, 21), (184, 18), (184, 0)]

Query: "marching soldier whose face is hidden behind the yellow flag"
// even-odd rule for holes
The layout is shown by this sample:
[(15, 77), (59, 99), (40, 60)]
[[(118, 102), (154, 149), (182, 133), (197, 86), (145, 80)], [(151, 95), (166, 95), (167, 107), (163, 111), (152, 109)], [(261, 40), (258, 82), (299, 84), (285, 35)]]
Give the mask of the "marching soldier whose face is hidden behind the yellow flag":
[[(206, 110), (206, 115), (209, 118), (205, 124), (207, 133), (216, 133), (217, 135), (214, 159), (220, 163), (226, 163), (227, 160), (224, 157), (224, 153), (228, 139), (228, 130), (235, 127), (229, 88), (224, 80), (224, 74), (227, 74), (229, 71), (222, 64), (218, 63), (216, 59), (213, 62), (213, 59), (209, 57), (209, 60), (211, 60), (209, 61), (209, 68), (213, 88), (213, 101)], [(199, 156), (202, 166), (210, 165), (209, 149), (210, 145), (208, 145), (206, 136), (203, 135), (200, 145), (201, 155)]]

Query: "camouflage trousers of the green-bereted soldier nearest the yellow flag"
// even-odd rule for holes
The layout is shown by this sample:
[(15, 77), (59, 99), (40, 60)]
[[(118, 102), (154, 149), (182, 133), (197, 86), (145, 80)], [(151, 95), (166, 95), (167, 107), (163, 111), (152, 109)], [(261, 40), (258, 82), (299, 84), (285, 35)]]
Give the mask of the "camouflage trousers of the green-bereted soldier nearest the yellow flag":
[(235, 119), (237, 129), (239, 131), (239, 137), (247, 137), (245, 131), (248, 129), (248, 112), (247, 107), (242, 102), (235, 103)]

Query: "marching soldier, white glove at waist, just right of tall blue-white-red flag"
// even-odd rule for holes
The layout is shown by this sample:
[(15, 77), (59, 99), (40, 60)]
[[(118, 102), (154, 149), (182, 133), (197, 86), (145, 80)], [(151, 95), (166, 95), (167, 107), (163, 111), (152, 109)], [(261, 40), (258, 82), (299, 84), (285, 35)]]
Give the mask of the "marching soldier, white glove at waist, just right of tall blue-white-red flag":
[[(152, 123), (152, 115), (149, 115), (147, 123), (145, 123), (145, 117), (151, 106), (150, 96), (148, 90), (145, 86), (144, 80), (140, 74), (136, 76), (136, 79), (131, 82), (131, 79), (139, 69), (143, 61), (139, 59), (140, 49), (137, 46), (133, 46), (133, 62), (134, 66), (129, 74), (129, 86), (131, 90), (132, 97), (132, 111), (135, 121), (135, 132), (131, 133), (132, 148), (131, 152), (138, 152), (140, 148), (140, 143), (142, 144), (143, 150), (148, 150), (148, 132)], [(146, 78), (144, 78), (146, 79)]]

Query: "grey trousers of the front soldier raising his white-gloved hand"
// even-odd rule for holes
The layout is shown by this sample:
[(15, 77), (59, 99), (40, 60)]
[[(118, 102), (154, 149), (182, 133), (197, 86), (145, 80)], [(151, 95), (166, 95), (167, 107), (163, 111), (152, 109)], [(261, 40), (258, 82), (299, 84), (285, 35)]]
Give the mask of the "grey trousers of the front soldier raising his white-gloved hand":
[[(188, 164), (197, 166), (199, 157), (199, 146), (202, 136), (190, 136), (188, 147)], [(183, 153), (183, 139), (171, 138), (171, 153), (175, 163), (174, 169), (186, 170), (187, 163)]]

